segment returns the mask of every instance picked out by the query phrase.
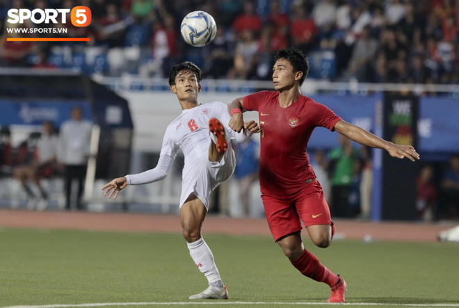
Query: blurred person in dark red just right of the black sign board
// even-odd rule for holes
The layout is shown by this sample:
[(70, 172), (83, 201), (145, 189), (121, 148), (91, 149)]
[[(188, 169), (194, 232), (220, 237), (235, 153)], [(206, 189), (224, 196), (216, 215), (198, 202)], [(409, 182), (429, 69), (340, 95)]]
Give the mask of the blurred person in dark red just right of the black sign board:
[(435, 205), (437, 204), (437, 188), (432, 183), (433, 168), (424, 166), (417, 179), (417, 217), (421, 220), (432, 221)]

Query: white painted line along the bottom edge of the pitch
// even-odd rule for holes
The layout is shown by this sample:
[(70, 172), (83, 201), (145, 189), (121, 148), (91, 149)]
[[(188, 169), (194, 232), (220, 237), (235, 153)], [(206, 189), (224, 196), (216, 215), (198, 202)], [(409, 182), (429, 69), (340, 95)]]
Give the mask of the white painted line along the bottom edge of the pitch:
[(459, 307), (458, 304), (384, 304), (381, 302), (345, 302), (328, 304), (326, 302), (97, 302), (93, 304), (68, 305), (30, 305), (1, 308), (66, 308), (66, 307), (105, 307), (105, 306), (170, 306), (170, 305), (342, 305), (342, 306), (394, 306), (394, 307)]

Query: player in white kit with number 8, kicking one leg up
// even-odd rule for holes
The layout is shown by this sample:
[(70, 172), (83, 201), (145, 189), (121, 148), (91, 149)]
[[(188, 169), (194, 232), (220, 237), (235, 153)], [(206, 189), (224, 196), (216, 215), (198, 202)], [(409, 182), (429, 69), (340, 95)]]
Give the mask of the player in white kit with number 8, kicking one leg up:
[[(182, 148), (185, 166), (182, 172), (180, 222), (190, 255), (201, 273), (207, 277), (209, 287), (190, 299), (227, 299), (226, 286), (220, 278), (214, 255), (201, 235), (202, 222), (209, 208), (209, 195), (223, 181), (231, 177), (236, 159), (230, 139), (245, 142), (252, 133), (259, 132), (255, 121), (245, 123), (245, 130), (236, 133), (228, 126), (231, 116), (227, 106), (220, 102), (201, 105), (202, 72), (191, 62), (175, 65), (169, 76), (170, 90), (177, 94), (182, 114), (169, 124), (163, 138), (158, 165), (138, 175), (113, 179), (102, 191), (109, 198), (127, 185), (152, 183), (164, 179), (172, 162)], [(112, 191), (113, 189), (113, 191)]]

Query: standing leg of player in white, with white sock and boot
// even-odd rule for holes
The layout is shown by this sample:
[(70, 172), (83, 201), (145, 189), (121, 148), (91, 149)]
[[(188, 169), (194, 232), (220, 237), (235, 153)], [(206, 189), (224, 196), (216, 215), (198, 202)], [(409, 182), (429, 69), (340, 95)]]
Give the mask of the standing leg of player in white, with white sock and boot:
[(182, 223), (184, 238), (188, 243), (191, 258), (193, 258), (196, 266), (209, 282), (207, 289), (199, 294), (191, 295), (190, 299), (226, 300), (228, 298), (226, 286), (220, 278), (220, 273), (218, 273), (214, 255), (201, 234), (202, 222), (204, 222), (206, 213), (206, 207), (194, 193), (188, 197), (188, 200), (180, 209), (180, 222)]

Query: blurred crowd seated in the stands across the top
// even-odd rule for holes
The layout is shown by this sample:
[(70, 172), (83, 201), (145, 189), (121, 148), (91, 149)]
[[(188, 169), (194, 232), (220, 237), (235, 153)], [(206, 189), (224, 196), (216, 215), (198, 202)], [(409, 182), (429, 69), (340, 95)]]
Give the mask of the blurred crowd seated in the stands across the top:
[[(79, 5), (92, 10), (90, 26), (56, 24), (67, 34), (52, 35), (90, 42), (5, 40), (23, 35), (7, 33), (14, 27), (6, 22), (9, 8)], [(218, 34), (207, 47), (180, 37), (179, 25), (193, 10), (216, 20)], [(275, 51), (293, 46), (308, 56), (312, 78), (459, 83), (459, 0), (0, 0), (0, 21), (0, 61), (9, 67), (161, 77), (191, 60), (207, 78), (270, 80)]]

